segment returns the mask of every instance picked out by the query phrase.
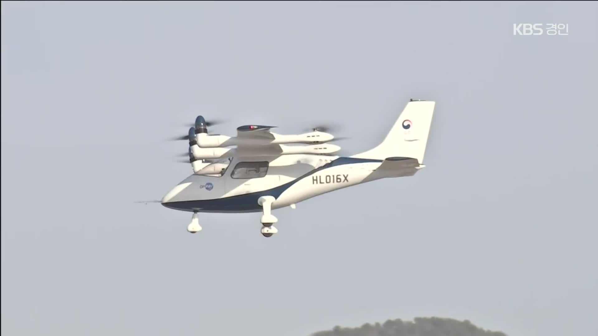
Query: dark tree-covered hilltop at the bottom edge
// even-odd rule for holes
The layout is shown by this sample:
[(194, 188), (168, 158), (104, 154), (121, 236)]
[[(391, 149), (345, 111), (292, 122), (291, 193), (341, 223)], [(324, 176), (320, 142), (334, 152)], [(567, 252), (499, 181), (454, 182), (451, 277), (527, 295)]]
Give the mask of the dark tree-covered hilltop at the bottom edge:
[(504, 332), (478, 328), (469, 320), (416, 317), (413, 321), (387, 320), (365, 323), (358, 328), (335, 326), (329, 331), (318, 331), (311, 336), (507, 336)]

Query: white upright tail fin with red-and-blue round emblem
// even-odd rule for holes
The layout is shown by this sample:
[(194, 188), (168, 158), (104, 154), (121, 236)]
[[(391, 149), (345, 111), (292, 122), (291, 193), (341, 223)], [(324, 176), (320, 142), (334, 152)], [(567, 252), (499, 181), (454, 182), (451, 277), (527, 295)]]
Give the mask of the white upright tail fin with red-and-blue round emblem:
[(355, 158), (416, 158), (421, 164), (426, 151), (435, 102), (410, 100), (380, 145), (353, 155)]

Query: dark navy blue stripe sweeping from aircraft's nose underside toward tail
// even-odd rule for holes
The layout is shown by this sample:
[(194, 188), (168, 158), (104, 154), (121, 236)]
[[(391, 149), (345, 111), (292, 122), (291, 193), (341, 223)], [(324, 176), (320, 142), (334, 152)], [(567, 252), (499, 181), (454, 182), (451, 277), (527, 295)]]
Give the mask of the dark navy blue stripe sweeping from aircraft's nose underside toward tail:
[(291, 185), (294, 185), (298, 181), (307, 176), (313, 175), (320, 170), (327, 169), (334, 166), (341, 166), (343, 164), (352, 163), (367, 163), (367, 162), (382, 162), (382, 160), (374, 160), (369, 158), (351, 158), (351, 157), (340, 157), (334, 161), (331, 161), (324, 166), (310, 170), (304, 175), (294, 179), (291, 182), (287, 182), (278, 187), (271, 188), (269, 190), (257, 191), (255, 193), (229, 196), (223, 198), (215, 198), (213, 200), (196, 200), (196, 201), (175, 201), (162, 203), (163, 206), (169, 207), (170, 209), (182, 210), (182, 211), (194, 211), (194, 212), (261, 212), (262, 207), (258, 204), (258, 198), (262, 196), (273, 196), (278, 198), (283, 191), (287, 190)]

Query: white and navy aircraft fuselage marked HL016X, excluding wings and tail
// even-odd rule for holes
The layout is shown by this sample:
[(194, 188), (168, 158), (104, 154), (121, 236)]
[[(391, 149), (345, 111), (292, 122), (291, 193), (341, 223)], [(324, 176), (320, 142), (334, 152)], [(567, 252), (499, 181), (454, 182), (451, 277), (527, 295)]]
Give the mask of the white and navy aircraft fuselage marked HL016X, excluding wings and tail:
[[(261, 175), (240, 174), (247, 163), (266, 167)], [(272, 209), (386, 177), (376, 173), (382, 160), (292, 154), (233, 158), (221, 176), (191, 175), (164, 196), (162, 204), (191, 212), (260, 212), (261, 196), (276, 198)], [(238, 166), (237, 166), (238, 165)], [(249, 170), (251, 170), (250, 167)], [(243, 170), (245, 172), (245, 170)], [(252, 176), (254, 174), (254, 176)]]

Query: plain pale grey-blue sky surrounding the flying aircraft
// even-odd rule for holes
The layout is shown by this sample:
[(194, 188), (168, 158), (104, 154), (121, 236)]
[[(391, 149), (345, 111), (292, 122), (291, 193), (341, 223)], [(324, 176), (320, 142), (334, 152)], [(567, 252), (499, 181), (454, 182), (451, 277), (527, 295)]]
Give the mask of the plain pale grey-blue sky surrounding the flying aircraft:
[[(2, 334), (305, 336), (441, 316), (598, 334), (596, 2), (2, 2)], [(568, 36), (513, 36), (568, 23)], [(426, 169), (277, 210), (159, 204), (198, 114), (376, 145), (436, 100)]]

